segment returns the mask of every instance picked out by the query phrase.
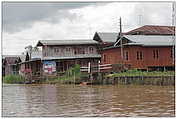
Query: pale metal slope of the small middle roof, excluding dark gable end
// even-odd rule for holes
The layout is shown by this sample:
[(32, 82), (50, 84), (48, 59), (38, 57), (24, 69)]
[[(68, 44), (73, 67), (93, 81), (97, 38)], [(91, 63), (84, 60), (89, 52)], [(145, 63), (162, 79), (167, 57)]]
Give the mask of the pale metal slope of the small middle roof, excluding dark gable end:
[(101, 38), (103, 42), (116, 42), (118, 37), (118, 33), (109, 33), (109, 32), (98, 32), (98, 36)]

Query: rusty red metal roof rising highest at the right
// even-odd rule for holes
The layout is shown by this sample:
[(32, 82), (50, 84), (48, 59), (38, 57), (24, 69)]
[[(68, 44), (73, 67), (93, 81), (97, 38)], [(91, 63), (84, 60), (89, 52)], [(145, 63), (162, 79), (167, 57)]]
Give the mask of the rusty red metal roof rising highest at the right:
[(175, 33), (174, 26), (156, 26), (145, 25), (125, 34), (127, 35), (173, 35)]

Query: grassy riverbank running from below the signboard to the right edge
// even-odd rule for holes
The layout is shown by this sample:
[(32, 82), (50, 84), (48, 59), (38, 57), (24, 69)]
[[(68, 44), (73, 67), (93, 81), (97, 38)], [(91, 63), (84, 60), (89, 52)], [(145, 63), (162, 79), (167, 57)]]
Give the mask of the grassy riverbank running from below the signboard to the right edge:
[(175, 72), (173, 71), (152, 71), (143, 72), (138, 70), (129, 70), (126, 72), (104, 74), (95, 73), (93, 79), (89, 78), (87, 74), (76, 75), (75, 77), (68, 76), (64, 78), (57, 78), (54, 80), (47, 80), (44, 83), (62, 83), (62, 84), (84, 84), (84, 85), (107, 85), (107, 84), (121, 84), (121, 85), (175, 85)]

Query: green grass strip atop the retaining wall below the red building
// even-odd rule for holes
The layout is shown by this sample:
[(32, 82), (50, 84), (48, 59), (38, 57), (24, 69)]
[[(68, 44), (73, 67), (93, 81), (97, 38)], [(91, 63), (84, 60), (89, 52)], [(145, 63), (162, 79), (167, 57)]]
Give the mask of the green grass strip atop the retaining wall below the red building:
[(126, 72), (121, 72), (121, 73), (114, 73), (114, 74), (108, 74), (106, 77), (121, 77), (121, 76), (174, 76), (175, 72), (174, 71), (166, 71), (166, 72), (161, 72), (161, 71), (152, 71), (152, 72), (147, 72), (147, 71), (138, 71), (136, 69), (134, 70), (128, 70)]

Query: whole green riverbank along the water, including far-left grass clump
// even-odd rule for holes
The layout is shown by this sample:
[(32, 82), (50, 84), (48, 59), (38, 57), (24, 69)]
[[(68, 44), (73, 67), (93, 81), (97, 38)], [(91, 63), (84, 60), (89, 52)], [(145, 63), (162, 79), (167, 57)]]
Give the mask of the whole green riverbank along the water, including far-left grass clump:
[[(19, 79), (18, 79), (19, 78)], [(3, 80), (4, 83), (25, 83), (25, 80), (21, 76), (7, 76)], [(84, 85), (107, 85), (107, 84), (121, 84), (121, 85), (175, 85), (175, 72), (173, 71), (152, 71), (143, 72), (138, 70), (129, 70), (126, 72), (105, 74), (95, 73), (91, 75), (88, 73), (81, 73), (80, 67), (69, 69), (62, 76), (54, 78), (43, 78), (38, 82), (43, 84), (84, 84)]]

